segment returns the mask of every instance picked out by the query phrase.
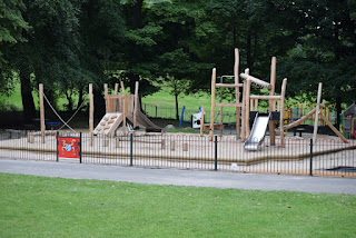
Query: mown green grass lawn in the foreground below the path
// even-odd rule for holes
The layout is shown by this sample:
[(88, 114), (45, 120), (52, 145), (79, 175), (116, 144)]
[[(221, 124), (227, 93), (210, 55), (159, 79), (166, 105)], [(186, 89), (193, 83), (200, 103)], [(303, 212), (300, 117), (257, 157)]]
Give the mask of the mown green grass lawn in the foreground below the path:
[[(283, 179), (283, 178), (281, 178)], [(355, 237), (356, 197), (0, 173), (0, 237)]]

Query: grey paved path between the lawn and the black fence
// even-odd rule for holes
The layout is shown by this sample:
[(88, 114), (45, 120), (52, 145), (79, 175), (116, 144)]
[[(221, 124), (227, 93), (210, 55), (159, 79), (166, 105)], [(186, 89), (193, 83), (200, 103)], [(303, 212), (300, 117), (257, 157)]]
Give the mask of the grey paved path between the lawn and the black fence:
[(72, 162), (0, 159), (0, 172), (150, 185), (177, 185), (257, 190), (356, 195), (356, 179), (221, 171), (144, 169)]

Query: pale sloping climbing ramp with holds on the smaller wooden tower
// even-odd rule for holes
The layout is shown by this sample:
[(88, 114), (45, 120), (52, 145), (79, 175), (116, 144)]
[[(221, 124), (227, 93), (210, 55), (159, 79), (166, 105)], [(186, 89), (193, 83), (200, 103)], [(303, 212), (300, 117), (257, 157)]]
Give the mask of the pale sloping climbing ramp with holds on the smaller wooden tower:
[(113, 136), (116, 129), (122, 122), (122, 113), (120, 112), (110, 112), (106, 113), (100, 120), (96, 129), (93, 130), (95, 135), (101, 133), (107, 136)]

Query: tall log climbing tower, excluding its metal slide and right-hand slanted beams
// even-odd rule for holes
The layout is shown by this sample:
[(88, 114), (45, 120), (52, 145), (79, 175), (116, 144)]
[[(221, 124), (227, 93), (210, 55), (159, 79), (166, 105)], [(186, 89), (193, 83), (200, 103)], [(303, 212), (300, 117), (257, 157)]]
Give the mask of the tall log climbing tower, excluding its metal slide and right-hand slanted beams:
[[(285, 91), (287, 86), (287, 79), (284, 79), (281, 86), (281, 93), (280, 96), (275, 95), (275, 83), (276, 83), (276, 58), (274, 57), (271, 60), (271, 73), (270, 73), (270, 82), (263, 81), (256, 77), (249, 75), (249, 70), (246, 69), (245, 73), (238, 75), (238, 67), (239, 67), (239, 51), (235, 49), (235, 66), (234, 66), (234, 76), (228, 76), (234, 78), (235, 83), (224, 83), (222, 80), (220, 83), (216, 83), (216, 69), (212, 69), (211, 75), (211, 113), (210, 113), (210, 123), (204, 125), (200, 127), (200, 135), (202, 136), (204, 131), (209, 130), (210, 140), (212, 140), (214, 129), (219, 128), (220, 136), (222, 135), (222, 111), (224, 107), (235, 107), (236, 108), (236, 139), (241, 139), (241, 141), (247, 141), (248, 138), (254, 137), (250, 135), (250, 127), (249, 127), (249, 119), (250, 112), (257, 110), (258, 108), (258, 100), (268, 100), (269, 102), (269, 112), (275, 112), (275, 117), (268, 117), (268, 125), (269, 125), (269, 132), (270, 132), (270, 143), (275, 145), (275, 125), (277, 120), (279, 123), (283, 125), (283, 117), (278, 115), (283, 115), (284, 112), (284, 100), (285, 100)], [(226, 77), (226, 76), (225, 76)], [(244, 79), (244, 83), (239, 82), (239, 77)], [(221, 77), (221, 79), (224, 76)], [(261, 96), (261, 95), (250, 95), (250, 87), (251, 83), (256, 83), (260, 87), (265, 87), (269, 89), (269, 96)], [(222, 103), (216, 102), (216, 88), (235, 88), (235, 102), (234, 103)], [(243, 88), (243, 100), (240, 101), (240, 90)], [(277, 106), (276, 106), (277, 102)], [(215, 121), (215, 107), (220, 107), (220, 116), (219, 116), (219, 123), (214, 123)], [(204, 121), (204, 107), (201, 107), (201, 115)], [(258, 113), (257, 116), (258, 117)], [(266, 125), (267, 126), (267, 125)], [(267, 128), (267, 127), (266, 127)], [(266, 130), (266, 128), (264, 128)], [(261, 129), (261, 128), (259, 128)], [(280, 143), (281, 147), (285, 147), (284, 141), (284, 128), (281, 127), (280, 131)], [(264, 133), (265, 135), (265, 133)]]

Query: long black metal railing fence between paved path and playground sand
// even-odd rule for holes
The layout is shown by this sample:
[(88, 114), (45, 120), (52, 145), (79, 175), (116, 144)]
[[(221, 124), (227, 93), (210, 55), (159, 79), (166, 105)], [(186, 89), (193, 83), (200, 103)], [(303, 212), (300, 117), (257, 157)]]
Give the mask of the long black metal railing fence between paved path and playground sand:
[(287, 138), (286, 147), (270, 146), (268, 137), (258, 151), (246, 151), (233, 136), (144, 133), (106, 137), (59, 133), (81, 138), (81, 159), (60, 158), (57, 133), (48, 131), (44, 143), (39, 131), (0, 131), (0, 157), (72, 161), (150, 168), (224, 170), (356, 177), (356, 140)]

